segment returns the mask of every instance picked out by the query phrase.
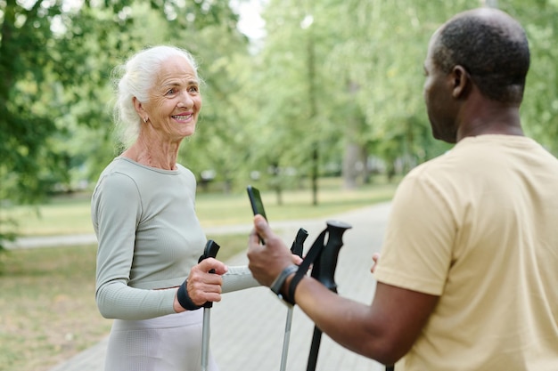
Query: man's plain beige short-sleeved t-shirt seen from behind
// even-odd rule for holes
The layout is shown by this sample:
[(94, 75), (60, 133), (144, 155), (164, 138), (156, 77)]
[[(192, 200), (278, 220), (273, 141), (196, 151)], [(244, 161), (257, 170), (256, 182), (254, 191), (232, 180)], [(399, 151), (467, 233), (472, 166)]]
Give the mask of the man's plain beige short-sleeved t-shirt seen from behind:
[(558, 160), (482, 135), (418, 166), (374, 275), (440, 296), (396, 370), (558, 370)]

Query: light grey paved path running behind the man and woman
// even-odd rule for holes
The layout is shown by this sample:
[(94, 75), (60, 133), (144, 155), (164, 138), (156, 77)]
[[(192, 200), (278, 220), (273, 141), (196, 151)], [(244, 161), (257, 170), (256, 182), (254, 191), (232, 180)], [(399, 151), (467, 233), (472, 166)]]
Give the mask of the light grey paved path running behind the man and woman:
[[(390, 204), (366, 207), (331, 219), (348, 222), (353, 226), (343, 236), (335, 281), (339, 294), (357, 302), (369, 303), (373, 297), (375, 281), (370, 273), (373, 252), (382, 244)], [(309, 237), (305, 252), (317, 235), (325, 228), (323, 221), (293, 221), (274, 223), (272, 227), (281, 232), (285, 241), (294, 238), (302, 227)], [(242, 226), (250, 230), (250, 225)], [(238, 228), (238, 227), (236, 227)], [(208, 238), (218, 230), (206, 230)], [(239, 254), (227, 262), (242, 265), (247, 262), (245, 254)], [(283, 331), (287, 307), (267, 287), (256, 287), (225, 294), (221, 302), (211, 310), (211, 351), (217, 359), (220, 371), (273, 371), (279, 370), (283, 348)], [(291, 343), (287, 371), (306, 370), (308, 351), (312, 342), (314, 325), (295, 307), (291, 328)], [(103, 371), (107, 340), (63, 362), (51, 371)], [(322, 336), (316, 371), (381, 371), (384, 367), (371, 359), (365, 359), (344, 348), (326, 336)]]

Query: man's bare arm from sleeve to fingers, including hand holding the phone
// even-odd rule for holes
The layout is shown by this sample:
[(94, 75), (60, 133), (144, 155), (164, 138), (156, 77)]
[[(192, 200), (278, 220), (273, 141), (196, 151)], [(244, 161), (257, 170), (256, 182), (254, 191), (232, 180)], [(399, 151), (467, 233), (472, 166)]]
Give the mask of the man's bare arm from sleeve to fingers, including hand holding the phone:
[[(250, 235), (250, 270), (262, 285), (270, 286), (292, 263), (291, 253), (262, 217), (254, 218)], [(258, 235), (266, 241), (259, 245)], [(282, 292), (288, 292), (292, 276)], [(438, 302), (438, 296), (378, 283), (371, 305), (332, 293), (316, 279), (304, 277), (295, 302), (316, 326), (351, 351), (390, 365), (411, 348)]]

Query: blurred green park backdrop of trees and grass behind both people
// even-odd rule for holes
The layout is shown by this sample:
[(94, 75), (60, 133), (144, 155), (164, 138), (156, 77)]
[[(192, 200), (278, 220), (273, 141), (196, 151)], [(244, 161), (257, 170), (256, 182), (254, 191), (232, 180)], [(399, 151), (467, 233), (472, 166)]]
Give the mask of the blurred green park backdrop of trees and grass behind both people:
[[(423, 61), (436, 28), (481, 5), (526, 29), (521, 118), (558, 154), (558, 0), (0, 0), (0, 370), (46, 370), (108, 334), (93, 241), (4, 246), (92, 233), (128, 56), (173, 44), (199, 61), (203, 109), (178, 160), (204, 228), (251, 221), (247, 184), (273, 221), (324, 217), (390, 199), (451, 148), (431, 138)], [(236, 254), (246, 233), (219, 241)]]

